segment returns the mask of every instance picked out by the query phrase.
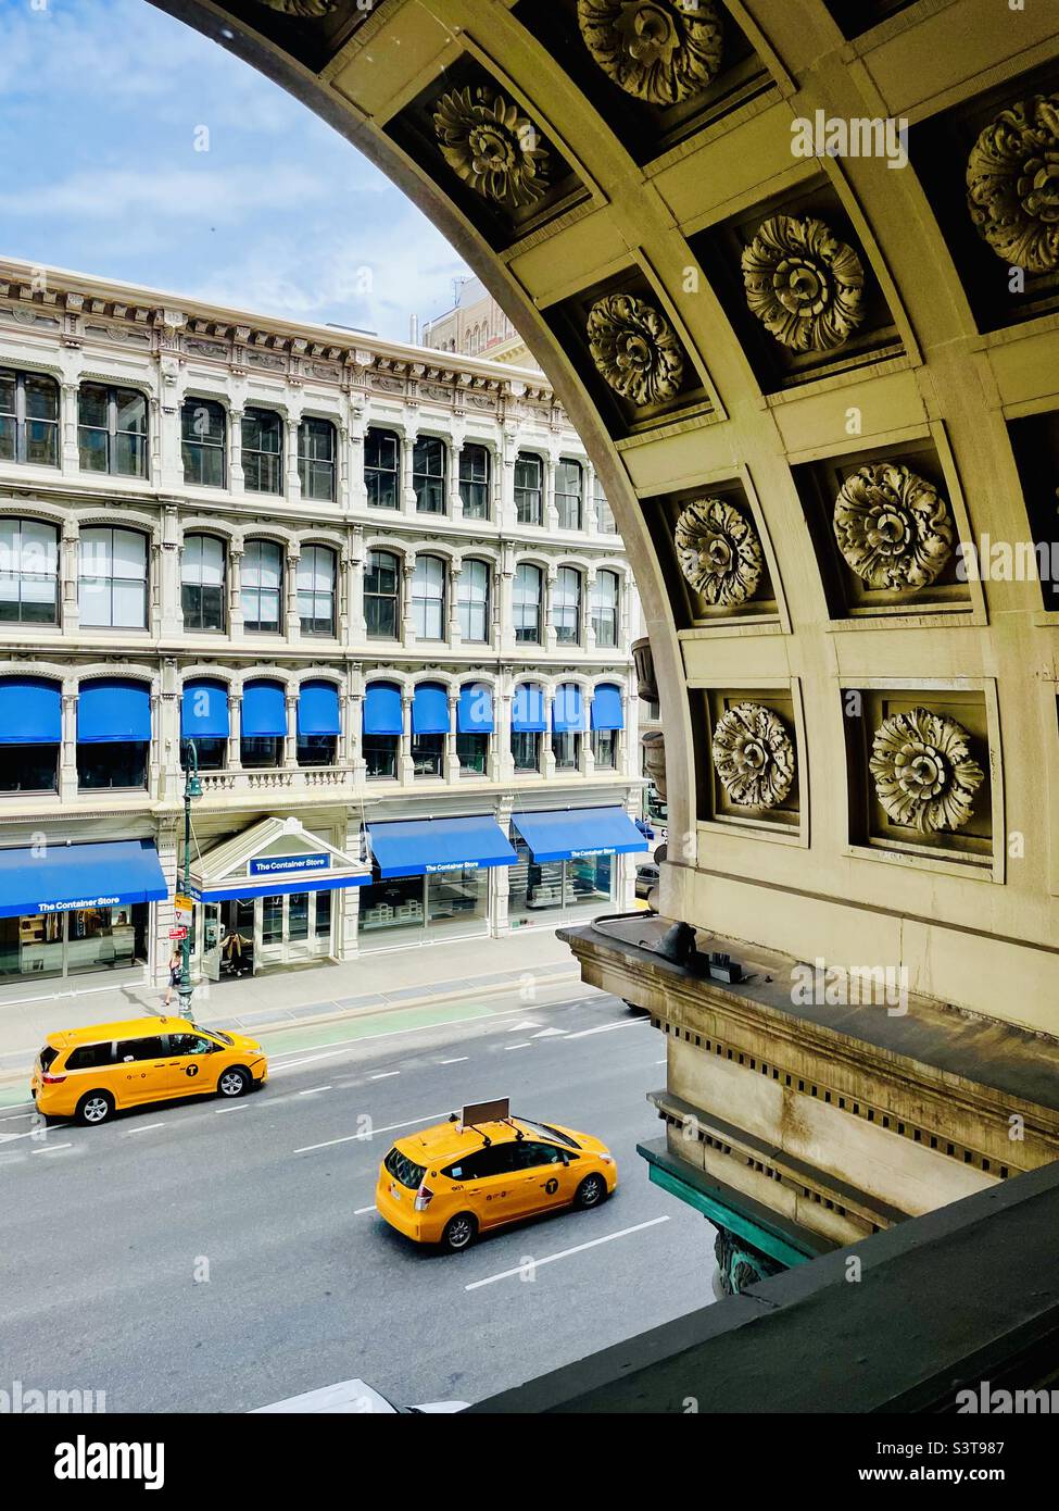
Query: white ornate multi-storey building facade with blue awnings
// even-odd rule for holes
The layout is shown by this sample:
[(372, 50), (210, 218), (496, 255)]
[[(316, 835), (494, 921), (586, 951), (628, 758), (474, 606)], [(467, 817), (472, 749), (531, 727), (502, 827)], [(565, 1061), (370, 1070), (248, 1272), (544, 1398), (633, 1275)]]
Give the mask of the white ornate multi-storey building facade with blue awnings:
[(190, 742), (196, 973), (627, 907), (636, 618), (539, 373), (0, 264), (0, 994), (163, 975)]

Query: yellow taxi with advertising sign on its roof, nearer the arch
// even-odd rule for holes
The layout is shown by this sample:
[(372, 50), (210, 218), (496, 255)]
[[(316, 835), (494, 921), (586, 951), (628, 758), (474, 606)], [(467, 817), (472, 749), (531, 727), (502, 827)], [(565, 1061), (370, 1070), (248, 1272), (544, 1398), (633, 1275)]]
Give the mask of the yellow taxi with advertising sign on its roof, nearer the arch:
[(609, 1148), (557, 1123), (476, 1103), (400, 1138), (379, 1166), (375, 1204), (415, 1244), (458, 1253), (479, 1233), (554, 1212), (598, 1207), (618, 1185)]

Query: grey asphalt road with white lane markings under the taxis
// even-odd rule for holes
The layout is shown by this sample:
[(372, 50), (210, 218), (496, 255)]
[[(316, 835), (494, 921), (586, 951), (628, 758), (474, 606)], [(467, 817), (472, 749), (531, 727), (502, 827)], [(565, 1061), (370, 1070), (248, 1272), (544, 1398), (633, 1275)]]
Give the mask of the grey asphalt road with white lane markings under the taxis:
[[(0, 1109), (0, 1386), (104, 1390), (107, 1411), (246, 1411), (354, 1377), (477, 1401), (710, 1302), (713, 1230), (634, 1151), (659, 1133), (660, 1035), (601, 994), (491, 1011), (264, 1035), (272, 1079), (239, 1103), (44, 1138)], [(492, 1095), (604, 1138), (618, 1191), (420, 1250), (375, 1213), (379, 1159)]]

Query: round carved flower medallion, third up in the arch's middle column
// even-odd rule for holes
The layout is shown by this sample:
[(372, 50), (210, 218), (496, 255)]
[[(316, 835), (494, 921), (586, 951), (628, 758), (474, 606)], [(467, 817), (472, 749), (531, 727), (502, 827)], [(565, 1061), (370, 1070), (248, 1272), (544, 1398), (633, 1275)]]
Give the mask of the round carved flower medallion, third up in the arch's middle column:
[(796, 352), (841, 346), (864, 319), (861, 260), (814, 216), (769, 216), (742, 263), (746, 304)]

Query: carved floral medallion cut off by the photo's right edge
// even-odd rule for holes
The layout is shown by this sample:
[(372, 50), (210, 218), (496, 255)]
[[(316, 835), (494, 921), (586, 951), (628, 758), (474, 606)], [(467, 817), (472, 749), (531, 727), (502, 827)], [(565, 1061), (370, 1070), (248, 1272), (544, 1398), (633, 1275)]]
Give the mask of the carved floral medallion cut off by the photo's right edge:
[(1059, 269), (1059, 95), (1002, 110), (967, 160), (967, 207), (997, 257)]

